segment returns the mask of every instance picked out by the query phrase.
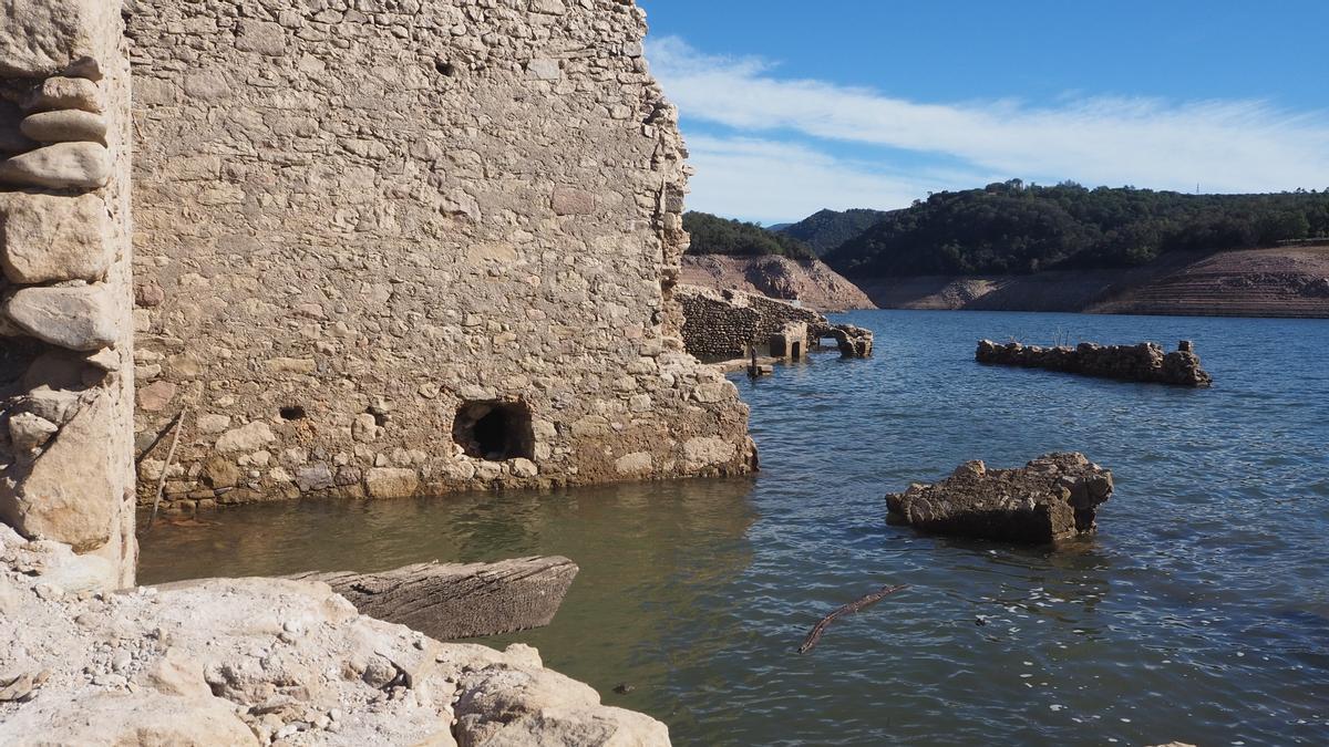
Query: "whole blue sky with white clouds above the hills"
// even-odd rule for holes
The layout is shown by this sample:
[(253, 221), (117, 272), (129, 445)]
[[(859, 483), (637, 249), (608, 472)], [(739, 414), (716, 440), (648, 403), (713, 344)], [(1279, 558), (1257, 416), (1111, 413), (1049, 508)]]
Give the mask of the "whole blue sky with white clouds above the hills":
[(688, 205), (766, 223), (1022, 178), (1329, 187), (1329, 0), (639, 0)]

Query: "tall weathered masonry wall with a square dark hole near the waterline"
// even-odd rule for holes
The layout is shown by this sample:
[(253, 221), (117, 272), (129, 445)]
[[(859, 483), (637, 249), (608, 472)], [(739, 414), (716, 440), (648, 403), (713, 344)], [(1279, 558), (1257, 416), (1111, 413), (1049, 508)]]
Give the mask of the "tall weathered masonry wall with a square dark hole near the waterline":
[(679, 340), (684, 152), (633, 3), (128, 15), (140, 444), (191, 412), (170, 504), (751, 468)]

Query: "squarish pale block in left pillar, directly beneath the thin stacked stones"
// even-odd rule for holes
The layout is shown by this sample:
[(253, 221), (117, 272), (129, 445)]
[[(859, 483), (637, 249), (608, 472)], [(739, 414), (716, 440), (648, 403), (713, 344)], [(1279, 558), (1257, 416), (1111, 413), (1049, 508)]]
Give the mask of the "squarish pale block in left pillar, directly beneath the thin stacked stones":
[(9, 280), (97, 280), (110, 266), (106, 206), (94, 194), (0, 195), (0, 265)]

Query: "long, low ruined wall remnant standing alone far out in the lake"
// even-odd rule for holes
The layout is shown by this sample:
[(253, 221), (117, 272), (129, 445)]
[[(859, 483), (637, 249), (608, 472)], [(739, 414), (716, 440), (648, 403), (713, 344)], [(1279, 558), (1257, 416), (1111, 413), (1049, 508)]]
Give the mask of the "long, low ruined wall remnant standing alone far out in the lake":
[(1075, 347), (1039, 347), (978, 340), (974, 359), (978, 363), (991, 366), (1046, 368), (1126, 381), (1152, 381), (1183, 387), (1208, 387), (1213, 383), (1213, 377), (1200, 367), (1200, 356), (1195, 355), (1195, 347), (1189, 340), (1181, 340), (1176, 351), (1168, 354), (1164, 354), (1162, 346), (1155, 343), (1136, 346), (1080, 343)]

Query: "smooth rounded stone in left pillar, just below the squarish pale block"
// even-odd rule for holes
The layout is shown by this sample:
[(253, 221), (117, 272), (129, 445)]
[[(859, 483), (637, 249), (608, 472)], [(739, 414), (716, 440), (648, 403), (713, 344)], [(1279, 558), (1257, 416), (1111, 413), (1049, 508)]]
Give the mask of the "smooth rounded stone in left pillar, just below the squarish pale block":
[(69, 350), (90, 352), (120, 339), (114, 303), (101, 284), (23, 288), (5, 312), (39, 340)]

